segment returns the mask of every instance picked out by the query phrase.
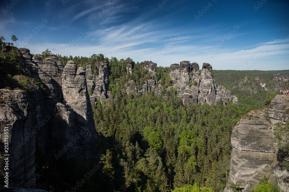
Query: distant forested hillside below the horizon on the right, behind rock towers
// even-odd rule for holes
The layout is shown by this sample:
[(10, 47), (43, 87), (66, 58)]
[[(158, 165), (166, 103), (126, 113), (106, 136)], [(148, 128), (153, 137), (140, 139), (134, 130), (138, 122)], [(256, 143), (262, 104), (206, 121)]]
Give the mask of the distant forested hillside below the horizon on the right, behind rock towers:
[[(289, 70), (276, 71), (237, 71), (213, 70), (212, 75), (217, 85), (223, 85), (238, 97), (239, 104), (251, 105), (261, 109), (268, 97), (278, 94), (280, 89), (289, 89), (289, 82), (273, 80), (273, 75), (288, 73)], [(244, 79), (247, 77), (248, 79)], [(255, 79), (259, 77), (259, 79)]]

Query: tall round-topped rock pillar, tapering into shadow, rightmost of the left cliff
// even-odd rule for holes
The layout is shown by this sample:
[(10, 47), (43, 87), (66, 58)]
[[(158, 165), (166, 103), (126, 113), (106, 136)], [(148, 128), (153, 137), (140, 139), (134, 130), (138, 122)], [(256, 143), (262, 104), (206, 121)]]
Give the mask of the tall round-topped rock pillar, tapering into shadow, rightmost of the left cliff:
[(83, 67), (68, 61), (62, 73), (63, 103), (73, 109), (74, 124), (77, 132), (84, 132), (79, 139), (81, 155), (87, 159), (95, 154), (97, 139), (90, 98), (86, 87), (86, 76)]

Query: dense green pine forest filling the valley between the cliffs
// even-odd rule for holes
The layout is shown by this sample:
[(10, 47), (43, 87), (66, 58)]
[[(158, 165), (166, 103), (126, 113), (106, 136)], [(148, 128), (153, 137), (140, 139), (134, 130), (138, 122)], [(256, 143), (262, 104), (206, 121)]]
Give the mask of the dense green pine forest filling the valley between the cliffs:
[[(21, 74), (21, 65), (16, 61), (18, 53), (14, 49), (5, 54), (1, 54), (1, 65), (7, 69), (9, 64), (16, 66), (11, 73), (0, 71), (1, 85), (9, 86), (12, 76)], [(125, 61), (130, 58), (109, 59), (103, 54), (89, 58), (58, 55), (58, 58), (64, 65), (73, 60), (84, 68), (87, 62), (107, 62), (109, 90), (114, 99), (105, 104), (97, 100), (92, 106), (99, 136), (95, 143), (99, 150), (97, 159), (88, 159), (79, 165), (80, 157), (60, 157), (55, 161), (54, 156), (36, 149), (36, 173), (41, 175), (36, 179), (36, 188), (47, 191), (223, 191), (229, 176), (234, 126), (242, 115), (268, 104), (277, 94), (274, 86), (288, 88), (289, 85), (272, 81), (274, 74), (283, 75), (289, 70), (213, 70), (216, 83), (236, 95), (239, 105), (231, 101), (216, 106), (186, 105), (174, 88), (168, 88), (172, 84), (168, 67), (157, 67), (156, 76), (151, 77), (139, 62), (132, 74), (127, 73)], [(92, 71), (97, 75), (97, 69)], [(245, 76), (249, 81), (239, 87), (239, 81)], [(269, 92), (257, 83), (255, 76), (271, 82)], [(124, 85), (129, 80), (142, 85), (146, 79), (155, 79), (156, 87), (163, 87), (158, 97), (152, 92), (145, 96), (125, 94)], [(251, 94), (246, 88), (253, 88), (257, 93)], [(163, 98), (164, 94), (168, 98)], [(266, 184), (262, 182), (260, 184)]]

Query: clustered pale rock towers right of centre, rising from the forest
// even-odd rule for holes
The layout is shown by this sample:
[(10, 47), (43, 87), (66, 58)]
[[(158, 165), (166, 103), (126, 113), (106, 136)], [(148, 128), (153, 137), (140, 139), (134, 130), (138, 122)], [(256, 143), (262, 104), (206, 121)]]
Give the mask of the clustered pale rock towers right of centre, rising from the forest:
[(229, 100), (238, 104), (237, 97), (231, 96), (231, 92), (224, 86), (216, 87), (212, 76), (212, 66), (208, 63), (203, 64), (201, 74), (197, 63), (182, 61), (180, 64), (172, 64), (169, 75), (173, 80), (173, 87), (178, 92), (178, 97), (186, 104), (189, 102), (219, 104)]

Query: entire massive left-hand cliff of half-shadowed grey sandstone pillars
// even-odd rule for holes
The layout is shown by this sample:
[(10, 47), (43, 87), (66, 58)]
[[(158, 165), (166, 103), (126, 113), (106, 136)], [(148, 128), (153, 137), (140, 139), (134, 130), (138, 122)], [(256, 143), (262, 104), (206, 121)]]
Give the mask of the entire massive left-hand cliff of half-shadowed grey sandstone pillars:
[[(25, 188), (35, 184), (36, 146), (55, 160), (80, 154), (83, 162), (97, 155), (97, 135), (84, 69), (77, 69), (73, 61), (63, 67), (55, 55), (43, 58), (36, 54), (32, 58), (28, 49), (21, 48), (19, 52), (27, 77), (14, 76), (11, 88), (19, 87), (21, 82), (27, 90), (0, 90), (0, 131), (3, 133), (8, 127), (9, 185)], [(39, 84), (46, 90), (41, 90)], [(0, 140), (3, 167), (3, 134)]]

